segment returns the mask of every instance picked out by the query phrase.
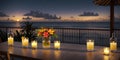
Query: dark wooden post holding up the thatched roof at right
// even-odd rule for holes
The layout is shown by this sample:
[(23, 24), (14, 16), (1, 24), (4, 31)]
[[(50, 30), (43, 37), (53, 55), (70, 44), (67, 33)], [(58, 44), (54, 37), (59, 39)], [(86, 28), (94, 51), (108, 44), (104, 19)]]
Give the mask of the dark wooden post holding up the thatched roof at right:
[(110, 3), (110, 37), (114, 32), (114, 0), (111, 0)]

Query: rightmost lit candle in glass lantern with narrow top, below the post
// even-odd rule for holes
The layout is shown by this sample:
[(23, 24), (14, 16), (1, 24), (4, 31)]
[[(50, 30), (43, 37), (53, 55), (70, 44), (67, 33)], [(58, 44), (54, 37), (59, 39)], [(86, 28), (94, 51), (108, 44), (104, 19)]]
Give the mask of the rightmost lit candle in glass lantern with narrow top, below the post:
[(117, 50), (117, 38), (115, 37), (114, 33), (112, 33), (112, 37), (110, 38), (110, 50), (111, 51)]

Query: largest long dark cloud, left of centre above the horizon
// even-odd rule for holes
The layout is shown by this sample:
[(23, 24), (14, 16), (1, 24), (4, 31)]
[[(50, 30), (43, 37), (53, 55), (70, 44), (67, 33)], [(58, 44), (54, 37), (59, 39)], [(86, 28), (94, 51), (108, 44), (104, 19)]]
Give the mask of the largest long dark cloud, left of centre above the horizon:
[(60, 19), (56, 15), (51, 15), (49, 13), (43, 13), (38, 11), (30, 11), (29, 13), (24, 14), (24, 16), (32, 16), (32, 17), (45, 18), (45, 19)]

